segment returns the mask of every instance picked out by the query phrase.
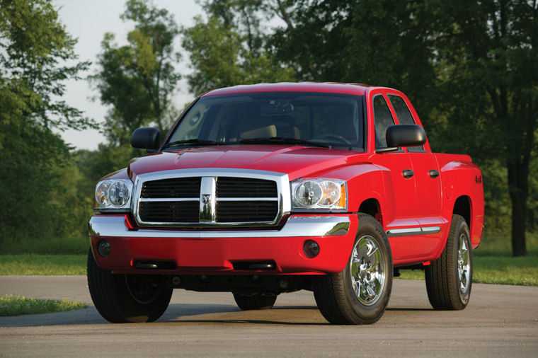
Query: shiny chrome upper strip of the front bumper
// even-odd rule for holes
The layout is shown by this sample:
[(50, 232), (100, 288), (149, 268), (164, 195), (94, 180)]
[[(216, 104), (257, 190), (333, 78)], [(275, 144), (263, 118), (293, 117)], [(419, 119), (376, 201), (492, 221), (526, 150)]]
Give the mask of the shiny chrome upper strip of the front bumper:
[(185, 231), (129, 230), (124, 216), (92, 216), (90, 236), (130, 238), (275, 238), (308, 236), (343, 236), (350, 227), (348, 216), (291, 216), (280, 230)]

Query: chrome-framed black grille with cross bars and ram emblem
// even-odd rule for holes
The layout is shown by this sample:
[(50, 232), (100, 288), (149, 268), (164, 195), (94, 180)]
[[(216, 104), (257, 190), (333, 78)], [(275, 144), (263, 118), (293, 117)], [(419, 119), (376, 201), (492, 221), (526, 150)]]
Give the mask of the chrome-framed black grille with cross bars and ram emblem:
[(273, 226), (290, 207), (285, 174), (224, 169), (212, 175), (205, 172), (207, 169), (190, 169), (139, 175), (133, 202), (138, 223)]

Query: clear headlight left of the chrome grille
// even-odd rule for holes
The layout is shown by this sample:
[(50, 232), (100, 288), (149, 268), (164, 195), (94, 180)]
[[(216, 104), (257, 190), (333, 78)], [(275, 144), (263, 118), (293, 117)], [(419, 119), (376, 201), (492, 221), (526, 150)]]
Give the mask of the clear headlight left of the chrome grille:
[(96, 209), (129, 209), (131, 192), (131, 180), (103, 180), (96, 186)]

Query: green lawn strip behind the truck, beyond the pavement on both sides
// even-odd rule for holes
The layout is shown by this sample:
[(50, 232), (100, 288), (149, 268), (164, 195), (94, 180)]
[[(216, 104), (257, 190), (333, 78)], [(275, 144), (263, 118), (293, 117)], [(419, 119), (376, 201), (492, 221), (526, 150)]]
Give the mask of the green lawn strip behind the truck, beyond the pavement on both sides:
[[(0, 275), (86, 275), (87, 238), (28, 240), (0, 246)], [(527, 235), (525, 258), (510, 257), (510, 238), (485, 233), (474, 250), (473, 282), (538, 286), (538, 233)], [(401, 279), (424, 279), (402, 270)]]

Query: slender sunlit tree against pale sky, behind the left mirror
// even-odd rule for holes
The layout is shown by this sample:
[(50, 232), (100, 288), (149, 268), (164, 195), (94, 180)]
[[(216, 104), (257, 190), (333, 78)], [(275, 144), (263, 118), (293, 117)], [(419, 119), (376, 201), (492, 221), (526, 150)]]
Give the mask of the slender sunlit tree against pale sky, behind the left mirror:
[(165, 132), (164, 114), (181, 78), (174, 69), (180, 54), (173, 41), (179, 33), (173, 16), (144, 0), (127, 1), (124, 21), (134, 21), (127, 45), (115, 44), (106, 33), (98, 56), (98, 73), (91, 76), (101, 103), (110, 105), (103, 134), (113, 144), (130, 142), (133, 130), (156, 122)]

